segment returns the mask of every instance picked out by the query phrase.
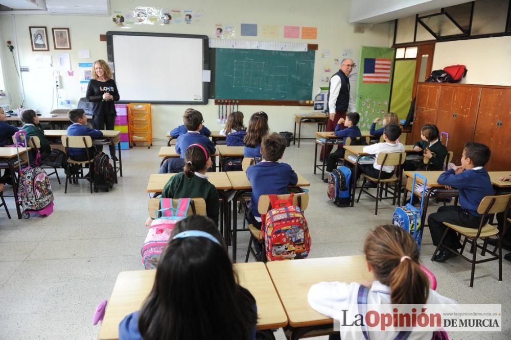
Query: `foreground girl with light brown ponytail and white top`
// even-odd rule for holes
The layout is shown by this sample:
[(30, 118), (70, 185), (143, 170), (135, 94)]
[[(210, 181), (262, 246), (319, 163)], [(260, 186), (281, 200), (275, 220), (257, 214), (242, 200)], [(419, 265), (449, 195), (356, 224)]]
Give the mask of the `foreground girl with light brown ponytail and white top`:
[[(413, 237), (404, 229), (383, 225), (371, 230), (364, 243), (367, 269), (375, 281), (367, 287), (367, 304), (455, 304), (429, 288), (429, 279), (419, 264), (419, 250)], [(360, 283), (320, 282), (309, 290), (308, 300), (312, 308), (331, 318), (338, 318), (342, 309), (348, 314), (358, 313), (357, 296)], [(371, 340), (394, 338), (389, 332), (371, 332)], [(340, 334), (330, 339), (356, 339), (362, 333), (341, 326)], [(379, 336), (381, 335), (381, 336)], [(430, 339), (433, 334), (413, 332), (408, 340)]]

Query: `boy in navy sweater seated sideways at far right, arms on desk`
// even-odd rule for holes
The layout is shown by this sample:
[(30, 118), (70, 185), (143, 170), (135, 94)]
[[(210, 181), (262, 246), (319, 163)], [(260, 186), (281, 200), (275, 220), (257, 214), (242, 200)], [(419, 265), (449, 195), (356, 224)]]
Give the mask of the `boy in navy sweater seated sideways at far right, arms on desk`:
[[(446, 226), (443, 222), (467, 228), (479, 228), (481, 215), (477, 207), (486, 196), (494, 195), (490, 175), (483, 167), (490, 159), (490, 149), (481, 143), (468, 142), (461, 156), (461, 166), (455, 166), (438, 177), (438, 183), (459, 191), (459, 206), (445, 206), (429, 215), (428, 224), (433, 245), (438, 246)], [(456, 232), (449, 230), (443, 244), (451, 249), (461, 248)], [(454, 253), (440, 248), (434, 260), (444, 262), (455, 256)]]

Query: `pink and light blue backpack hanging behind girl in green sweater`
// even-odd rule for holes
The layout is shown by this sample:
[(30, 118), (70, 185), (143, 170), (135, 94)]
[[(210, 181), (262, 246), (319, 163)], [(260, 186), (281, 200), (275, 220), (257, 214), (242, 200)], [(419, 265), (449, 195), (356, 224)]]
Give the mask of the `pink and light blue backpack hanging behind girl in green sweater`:
[(191, 199), (179, 199), (176, 208), (172, 207), (172, 199), (160, 199), (160, 209), (156, 210), (155, 220), (149, 227), (144, 246), (142, 246), (142, 264), (145, 269), (156, 269), (172, 230), (179, 221), (187, 218), (190, 206), (195, 215), (195, 205)]

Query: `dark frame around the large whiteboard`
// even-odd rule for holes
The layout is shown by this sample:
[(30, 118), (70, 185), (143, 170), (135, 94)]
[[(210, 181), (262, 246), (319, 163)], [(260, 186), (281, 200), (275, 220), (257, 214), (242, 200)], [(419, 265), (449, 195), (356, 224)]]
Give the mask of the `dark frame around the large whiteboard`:
[[(151, 33), (151, 32), (125, 32), (125, 31), (108, 31), (106, 32), (106, 48), (108, 54), (108, 61), (113, 63), (113, 79), (115, 80), (115, 56), (113, 55), (113, 36), (114, 35), (134, 35), (134, 36), (150, 36), (150, 37), (169, 37), (169, 38), (192, 38), (192, 39), (202, 39), (202, 69), (209, 70), (209, 41), (206, 35), (197, 35), (197, 34), (171, 34), (171, 33)], [(128, 104), (128, 103), (151, 103), (151, 104), (175, 104), (175, 105), (207, 105), (209, 98), (209, 88), (210, 83), (202, 82), (202, 100), (201, 101), (147, 101), (147, 100), (129, 100), (123, 101), (120, 100), (117, 103), (119, 104)]]

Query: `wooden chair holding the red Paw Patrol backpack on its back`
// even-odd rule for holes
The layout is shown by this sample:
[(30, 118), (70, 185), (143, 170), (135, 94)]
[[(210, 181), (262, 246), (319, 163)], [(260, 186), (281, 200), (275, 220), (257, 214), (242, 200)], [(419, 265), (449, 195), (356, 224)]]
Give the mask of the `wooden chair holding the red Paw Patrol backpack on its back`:
[[(278, 200), (289, 200), (289, 195), (277, 195)], [(295, 193), (293, 196), (293, 204), (300, 207), (302, 211), (305, 212), (305, 209), (309, 206), (309, 193), (308, 192), (300, 192)], [(262, 195), (259, 198), (257, 210), (261, 214), (261, 216), (265, 216), (268, 210), (271, 210), (270, 198), (268, 195)], [(262, 226), (263, 228), (264, 226)], [(263, 246), (262, 260), (266, 262), (266, 253), (264, 251), (264, 239), (262, 238), (262, 232), (257, 227), (253, 225), (248, 225), (248, 230), (250, 231), (250, 240), (248, 241), (247, 255), (245, 256), (245, 262), (248, 262), (248, 256), (250, 253), (256, 261), (259, 261), (255, 250), (252, 248), (252, 242), (259, 242)]]

